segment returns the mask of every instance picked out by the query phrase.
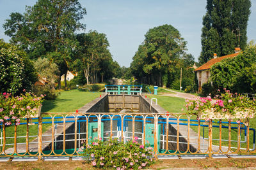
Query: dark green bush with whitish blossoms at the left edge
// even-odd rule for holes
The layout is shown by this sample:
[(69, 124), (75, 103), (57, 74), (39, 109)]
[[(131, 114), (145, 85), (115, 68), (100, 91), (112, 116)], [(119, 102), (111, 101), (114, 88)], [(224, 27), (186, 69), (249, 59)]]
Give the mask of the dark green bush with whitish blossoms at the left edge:
[(36, 72), (26, 52), (0, 39), (0, 91), (18, 95), (31, 90), (37, 80)]

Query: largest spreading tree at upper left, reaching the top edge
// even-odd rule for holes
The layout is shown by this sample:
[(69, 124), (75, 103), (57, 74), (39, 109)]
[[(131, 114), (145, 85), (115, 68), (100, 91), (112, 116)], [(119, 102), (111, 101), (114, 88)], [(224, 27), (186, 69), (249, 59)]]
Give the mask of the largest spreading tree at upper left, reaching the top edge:
[(75, 33), (85, 29), (81, 20), (86, 14), (78, 0), (38, 0), (27, 6), (24, 15), (11, 13), (3, 25), (11, 42), (20, 44), (30, 59), (48, 57), (59, 67), (60, 77), (67, 74), (71, 53), (77, 41)]

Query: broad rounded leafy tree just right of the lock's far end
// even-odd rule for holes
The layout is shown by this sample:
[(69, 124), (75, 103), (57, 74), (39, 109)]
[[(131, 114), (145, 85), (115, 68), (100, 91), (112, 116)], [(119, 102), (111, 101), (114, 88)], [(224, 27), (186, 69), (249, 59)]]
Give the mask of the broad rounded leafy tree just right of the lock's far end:
[(132, 58), (132, 74), (144, 83), (170, 85), (180, 68), (186, 41), (172, 25), (149, 29), (145, 41)]

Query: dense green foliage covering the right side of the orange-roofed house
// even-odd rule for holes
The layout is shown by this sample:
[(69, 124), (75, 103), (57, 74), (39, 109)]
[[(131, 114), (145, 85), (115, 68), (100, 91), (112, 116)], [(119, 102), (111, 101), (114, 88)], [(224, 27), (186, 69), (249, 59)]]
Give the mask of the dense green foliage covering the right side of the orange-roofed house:
[(256, 46), (251, 46), (232, 59), (225, 59), (211, 68), (213, 92), (227, 88), (232, 92), (256, 93)]

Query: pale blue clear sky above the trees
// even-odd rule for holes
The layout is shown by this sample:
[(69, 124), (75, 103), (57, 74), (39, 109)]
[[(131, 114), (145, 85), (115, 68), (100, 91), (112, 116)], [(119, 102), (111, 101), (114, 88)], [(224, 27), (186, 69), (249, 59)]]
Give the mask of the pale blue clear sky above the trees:
[[(248, 22), (248, 41), (256, 40), (256, 0), (252, 1)], [(4, 35), (4, 20), (12, 12), (24, 13), (35, 0), (0, 0), (0, 38)], [(201, 52), (202, 17), (206, 0), (80, 0), (87, 15), (81, 20), (86, 32), (96, 30), (107, 35), (109, 50), (120, 66), (129, 67), (148, 29), (170, 24), (188, 42), (188, 53), (197, 60)]]

